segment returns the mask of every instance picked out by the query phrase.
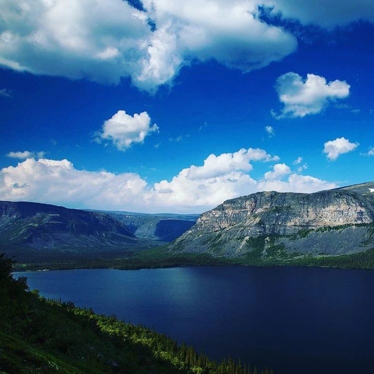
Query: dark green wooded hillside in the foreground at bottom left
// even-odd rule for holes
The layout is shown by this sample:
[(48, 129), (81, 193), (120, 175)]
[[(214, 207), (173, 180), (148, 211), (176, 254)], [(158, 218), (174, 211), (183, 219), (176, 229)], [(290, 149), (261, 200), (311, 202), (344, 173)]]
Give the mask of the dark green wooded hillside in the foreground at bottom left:
[(230, 359), (218, 365), (115, 316), (39, 298), (25, 278), (12, 278), (11, 266), (0, 254), (1, 374), (257, 374)]

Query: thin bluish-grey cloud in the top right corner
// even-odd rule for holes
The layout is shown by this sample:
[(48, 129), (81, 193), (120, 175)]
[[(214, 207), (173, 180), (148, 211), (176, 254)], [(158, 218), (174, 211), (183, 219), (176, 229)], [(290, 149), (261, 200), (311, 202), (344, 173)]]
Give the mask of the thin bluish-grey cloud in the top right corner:
[(298, 19), (303, 24), (332, 28), (362, 19), (374, 22), (372, 0), (263, 0), (262, 3), (273, 6), (273, 13), (282, 13), (283, 17)]

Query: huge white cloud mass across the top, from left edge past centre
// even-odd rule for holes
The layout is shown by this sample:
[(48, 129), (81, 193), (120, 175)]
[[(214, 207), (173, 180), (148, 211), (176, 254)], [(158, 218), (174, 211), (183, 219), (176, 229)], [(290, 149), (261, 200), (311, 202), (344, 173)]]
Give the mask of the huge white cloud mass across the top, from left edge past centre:
[(130, 77), (154, 91), (191, 61), (215, 59), (250, 71), (297, 47), (289, 32), (259, 19), (256, 1), (144, 0), (143, 9), (123, 0), (71, 0), (69, 6), (3, 0), (0, 66), (109, 84)]

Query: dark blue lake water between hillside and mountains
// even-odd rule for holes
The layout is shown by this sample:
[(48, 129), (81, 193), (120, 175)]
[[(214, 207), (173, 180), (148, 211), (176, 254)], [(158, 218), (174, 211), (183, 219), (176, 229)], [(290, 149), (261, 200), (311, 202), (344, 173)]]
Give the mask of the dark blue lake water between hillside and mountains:
[[(25, 275), (25, 273), (15, 273)], [(374, 271), (181, 267), (28, 272), (50, 298), (275, 374), (374, 373)]]

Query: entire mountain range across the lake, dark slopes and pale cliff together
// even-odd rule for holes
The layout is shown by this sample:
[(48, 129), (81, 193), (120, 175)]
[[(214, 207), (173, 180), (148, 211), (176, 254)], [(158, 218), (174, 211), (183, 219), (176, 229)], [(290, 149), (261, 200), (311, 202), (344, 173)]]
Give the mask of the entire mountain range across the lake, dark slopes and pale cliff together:
[(123, 259), (167, 243), (150, 252), (152, 266), (170, 255), (287, 264), (374, 251), (374, 182), (315, 193), (256, 192), (199, 217), (0, 201), (0, 252), (17, 261)]

